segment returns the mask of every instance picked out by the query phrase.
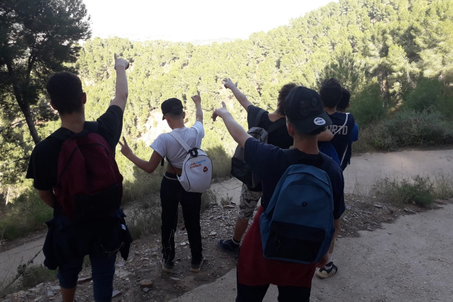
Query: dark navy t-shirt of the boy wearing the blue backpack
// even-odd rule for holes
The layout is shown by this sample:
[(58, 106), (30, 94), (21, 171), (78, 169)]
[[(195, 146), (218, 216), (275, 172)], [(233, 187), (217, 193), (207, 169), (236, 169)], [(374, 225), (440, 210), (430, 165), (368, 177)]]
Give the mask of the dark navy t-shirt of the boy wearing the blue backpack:
[[(293, 158), (300, 159), (297, 163), (320, 167), (323, 159), (321, 155), (306, 154), (298, 149), (290, 149), (294, 152)], [(292, 156), (292, 154), (291, 154)], [(279, 147), (263, 143), (251, 137), (247, 139), (244, 146), (245, 162), (252, 168), (253, 172), (258, 175), (263, 184), (263, 197), (261, 205), (266, 209), (274, 193), (275, 187), (283, 173), (291, 165), (288, 158)], [(344, 179), (340, 166), (334, 161), (325, 170), (329, 175), (332, 184), (334, 200), (334, 219), (340, 218), (345, 210), (344, 205)]]

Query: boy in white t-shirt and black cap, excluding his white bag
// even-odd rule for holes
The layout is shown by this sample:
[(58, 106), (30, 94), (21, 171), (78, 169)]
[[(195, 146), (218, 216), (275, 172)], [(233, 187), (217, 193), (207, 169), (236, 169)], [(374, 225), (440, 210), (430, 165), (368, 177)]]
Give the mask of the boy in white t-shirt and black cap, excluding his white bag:
[[(195, 103), (195, 123), (188, 128), (184, 125), (186, 113), (179, 99), (171, 98), (161, 105), (162, 119), (167, 120), (168, 125), (191, 146), (201, 147), (201, 139), (204, 136), (203, 111), (201, 110), (200, 92), (192, 97)], [(201, 193), (186, 192), (178, 181), (176, 175), (181, 175), (182, 164), (186, 156), (186, 150), (169, 133), (160, 134), (150, 145), (154, 149), (149, 161), (135, 156), (123, 137), (120, 142), (121, 153), (132, 163), (147, 173), (153, 173), (161, 161), (167, 159), (167, 171), (161, 182), (161, 206), (162, 206), (162, 270), (172, 272), (175, 260), (174, 234), (178, 223), (178, 204), (181, 203), (184, 224), (189, 238), (190, 252), (192, 254), (192, 272), (199, 272), (203, 264), (201, 248), (200, 207)]]

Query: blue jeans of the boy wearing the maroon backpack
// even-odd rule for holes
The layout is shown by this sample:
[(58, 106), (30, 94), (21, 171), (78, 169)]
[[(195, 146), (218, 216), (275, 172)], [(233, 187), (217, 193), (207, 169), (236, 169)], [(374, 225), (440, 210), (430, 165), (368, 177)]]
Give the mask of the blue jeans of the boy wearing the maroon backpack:
[[(110, 302), (113, 292), (116, 253), (90, 255), (93, 296), (96, 302)], [(58, 267), (58, 280), (63, 288), (77, 285), (84, 257), (73, 258)]]

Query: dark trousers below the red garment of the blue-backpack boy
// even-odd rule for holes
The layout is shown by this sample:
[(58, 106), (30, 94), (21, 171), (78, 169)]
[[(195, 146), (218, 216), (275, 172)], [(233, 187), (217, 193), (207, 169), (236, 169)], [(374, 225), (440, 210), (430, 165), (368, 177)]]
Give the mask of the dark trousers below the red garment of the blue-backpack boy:
[[(266, 294), (269, 284), (265, 285), (245, 285), (237, 283), (238, 296), (236, 302), (261, 302)], [(302, 286), (278, 286), (279, 302), (309, 302), (310, 287)]]

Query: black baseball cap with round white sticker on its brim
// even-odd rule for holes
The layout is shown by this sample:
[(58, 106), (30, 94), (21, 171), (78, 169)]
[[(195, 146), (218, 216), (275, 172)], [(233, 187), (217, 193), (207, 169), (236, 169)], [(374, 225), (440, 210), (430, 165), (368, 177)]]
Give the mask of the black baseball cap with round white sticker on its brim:
[(284, 101), (289, 122), (300, 132), (309, 133), (318, 128), (332, 125), (319, 94), (307, 87), (291, 89)]

